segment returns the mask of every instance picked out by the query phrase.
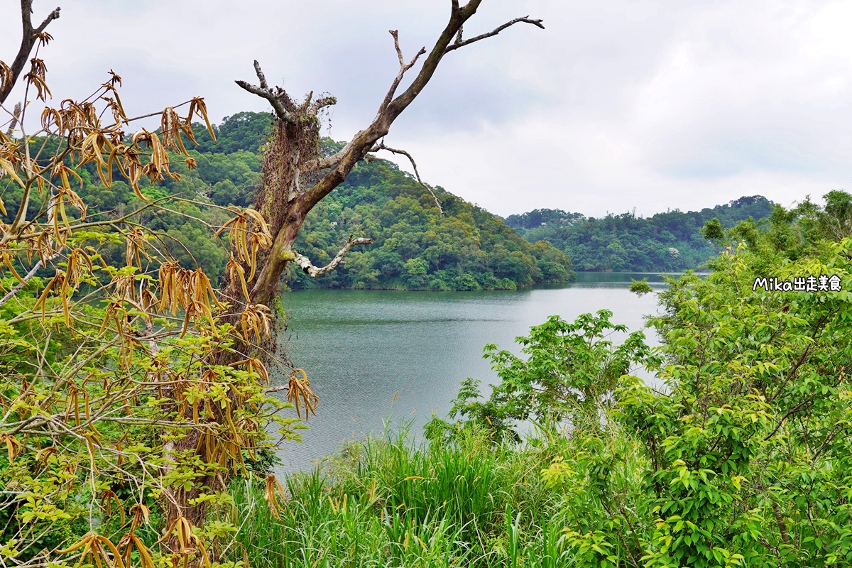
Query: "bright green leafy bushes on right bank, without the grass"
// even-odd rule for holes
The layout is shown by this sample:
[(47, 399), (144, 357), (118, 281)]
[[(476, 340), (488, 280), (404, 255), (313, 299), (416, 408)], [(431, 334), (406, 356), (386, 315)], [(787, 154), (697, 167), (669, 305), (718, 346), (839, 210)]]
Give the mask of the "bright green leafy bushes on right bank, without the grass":
[[(484, 400), (466, 382), (463, 420), (436, 418), (429, 436), (485, 428), (501, 445), (524, 418), (567, 426), (571, 445), (541, 473), (563, 499), (555, 565), (849, 565), (850, 203), (832, 192), (825, 207), (774, 209), (765, 231), (729, 230), (708, 278), (660, 293), (657, 350), (638, 332), (609, 343), (605, 311), (533, 327), (525, 359), (486, 347), (501, 382)], [(755, 290), (808, 275), (839, 289)]]

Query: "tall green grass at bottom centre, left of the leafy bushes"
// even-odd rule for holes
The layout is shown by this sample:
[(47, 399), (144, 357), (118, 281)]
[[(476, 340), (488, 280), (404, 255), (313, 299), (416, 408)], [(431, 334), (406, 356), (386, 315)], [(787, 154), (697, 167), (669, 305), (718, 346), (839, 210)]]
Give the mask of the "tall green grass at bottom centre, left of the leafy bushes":
[(565, 496), (541, 475), (570, 445), (550, 435), (495, 446), (474, 428), (445, 445), (416, 444), (406, 429), (349, 442), (282, 480), (280, 519), (262, 479), (235, 482), (239, 528), (222, 558), (252, 568), (571, 565)]

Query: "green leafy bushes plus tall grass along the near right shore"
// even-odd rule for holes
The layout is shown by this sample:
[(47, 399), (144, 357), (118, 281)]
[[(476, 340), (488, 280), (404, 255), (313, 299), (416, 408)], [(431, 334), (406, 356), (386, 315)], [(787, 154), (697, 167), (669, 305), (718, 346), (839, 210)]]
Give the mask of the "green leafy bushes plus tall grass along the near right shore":
[[(711, 233), (711, 275), (671, 279), (649, 319), (552, 317), (486, 346), (500, 382), (464, 382), (429, 445), (405, 432), (343, 445), (286, 479), (232, 490), (244, 548), (280, 565), (843, 566), (852, 562), (852, 198), (826, 195)], [(712, 225), (712, 224), (711, 224)], [(838, 240), (838, 236), (843, 236)], [(832, 274), (841, 290), (753, 290)], [(638, 291), (643, 291), (638, 287)], [(632, 376), (656, 373), (655, 390)], [(523, 443), (521, 424), (526, 434)], [(239, 524), (237, 520), (241, 519)], [(245, 550), (245, 553), (243, 552)]]

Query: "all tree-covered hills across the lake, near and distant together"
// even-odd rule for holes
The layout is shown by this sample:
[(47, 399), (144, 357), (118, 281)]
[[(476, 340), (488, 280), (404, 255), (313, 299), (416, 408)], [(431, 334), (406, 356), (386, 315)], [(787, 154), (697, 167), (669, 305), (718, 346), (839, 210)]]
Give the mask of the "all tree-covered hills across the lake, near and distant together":
[[(182, 266), (198, 265), (211, 276), (223, 273), (227, 258), (222, 247), (201, 222), (191, 218), (221, 224), (226, 215), (207, 204), (247, 207), (253, 203), (271, 124), (266, 112), (238, 112), (213, 125), (215, 141), (203, 125), (195, 124), (198, 145), (190, 146), (189, 154), (197, 169), (154, 185), (140, 181), (147, 198), (186, 200), (171, 207), (180, 215), (158, 210), (140, 217), (162, 235), (164, 247)], [(330, 139), (323, 144), (325, 154), (342, 147)], [(126, 215), (144, 204), (128, 183), (118, 181), (118, 175), (107, 188), (95, 164), (85, 164), (78, 171), (80, 197), (105, 218)], [(0, 184), (0, 192), (9, 215), (3, 215), (2, 221), (9, 223), (20, 202), (20, 188), (5, 185)], [(336, 271), (319, 278), (310, 278), (292, 265), (285, 273), (286, 283), (292, 289), (515, 290), (530, 284), (571, 282), (572, 268), (678, 272), (697, 268), (717, 254), (717, 245), (701, 232), (707, 221), (716, 218), (722, 228), (728, 228), (751, 217), (759, 226), (774, 206), (766, 198), (751, 196), (701, 211), (675, 209), (647, 218), (625, 213), (598, 219), (561, 209), (535, 209), (503, 221), (442, 187), (432, 190), (443, 214), (429, 190), (393, 162), (375, 157), (360, 162), (338, 190), (310, 212), (295, 249), (322, 265), (352, 235), (372, 238), (373, 244), (349, 251)], [(33, 201), (31, 213), (43, 207)], [(124, 252), (113, 248), (112, 261), (118, 261)]]

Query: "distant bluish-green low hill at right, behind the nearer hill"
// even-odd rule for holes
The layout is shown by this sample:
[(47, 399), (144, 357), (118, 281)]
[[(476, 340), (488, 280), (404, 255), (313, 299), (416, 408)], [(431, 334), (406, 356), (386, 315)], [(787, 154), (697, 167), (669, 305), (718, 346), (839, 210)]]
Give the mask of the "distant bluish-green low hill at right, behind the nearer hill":
[(715, 217), (723, 227), (734, 227), (750, 216), (768, 217), (773, 205), (755, 195), (700, 211), (675, 209), (647, 218), (609, 214), (600, 219), (560, 209), (535, 209), (509, 215), (506, 224), (531, 243), (544, 241), (563, 250), (576, 270), (671, 273), (697, 268), (717, 254), (699, 231), (705, 222)]

